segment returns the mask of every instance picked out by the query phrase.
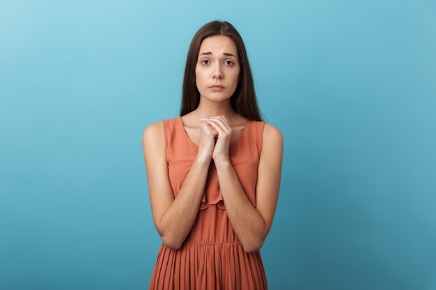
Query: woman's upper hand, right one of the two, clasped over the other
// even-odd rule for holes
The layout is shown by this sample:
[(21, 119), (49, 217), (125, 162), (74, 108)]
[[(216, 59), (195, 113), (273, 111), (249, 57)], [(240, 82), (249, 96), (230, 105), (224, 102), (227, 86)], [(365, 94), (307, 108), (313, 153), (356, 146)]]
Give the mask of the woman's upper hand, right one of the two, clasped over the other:
[(206, 122), (217, 131), (217, 142), (213, 150), (212, 159), (215, 163), (228, 161), (228, 147), (232, 138), (232, 129), (224, 116), (206, 119)]

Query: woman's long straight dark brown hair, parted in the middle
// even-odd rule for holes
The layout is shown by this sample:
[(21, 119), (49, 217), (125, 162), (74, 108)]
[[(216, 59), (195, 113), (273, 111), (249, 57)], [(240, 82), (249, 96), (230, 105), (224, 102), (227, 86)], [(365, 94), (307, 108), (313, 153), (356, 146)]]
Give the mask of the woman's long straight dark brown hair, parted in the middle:
[(242, 41), (241, 35), (232, 24), (220, 21), (213, 21), (205, 24), (197, 31), (194, 38), (192, 38), (186, 59), (185, 76), (183, 78), (180, 116), (194, 111), (198, 107), (198, 104), (200, 104), (200, 92), (198, 92), (195, 83), (195, 67), (198, 53), (200, 51), (201, 42), (203, 42), (205, 38), (215, 35), (224, 35), (231, 38), (238, 49), (238, 58), (241, 67), (240, 83), (231, 96), (233, 110), (249, 120), (262, 120), (244, 42)]

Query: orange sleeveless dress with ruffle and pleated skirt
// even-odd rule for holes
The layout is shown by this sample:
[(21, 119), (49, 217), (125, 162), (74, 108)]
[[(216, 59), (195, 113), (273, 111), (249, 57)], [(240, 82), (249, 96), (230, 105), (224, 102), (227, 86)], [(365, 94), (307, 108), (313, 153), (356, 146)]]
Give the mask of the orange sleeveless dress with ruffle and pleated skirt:
[[(256, 181), (265, 122), (248, 120), (229, 155), (251, 204), (256, 207)], [(164, 120), (166, 160), (174, 195), (198, 152), (185, 132), (182, 118)], [(162, 244), (149, 289), (267, 289), (260, 252), (244, 252), (226, 214), (217, 171), (210, 166), (205, 192), (194, 225), (178, 250)]]

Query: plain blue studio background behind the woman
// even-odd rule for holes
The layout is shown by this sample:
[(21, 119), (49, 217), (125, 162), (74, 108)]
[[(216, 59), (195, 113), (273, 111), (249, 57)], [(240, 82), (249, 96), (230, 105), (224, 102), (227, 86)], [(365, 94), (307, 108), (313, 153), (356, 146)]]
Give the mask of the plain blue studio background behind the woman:
[(0, 289), (146, 289), (141, 134), (225, 19), (283, 132), (272, 290), (436, 289), (435, 1), (0, 1)]

